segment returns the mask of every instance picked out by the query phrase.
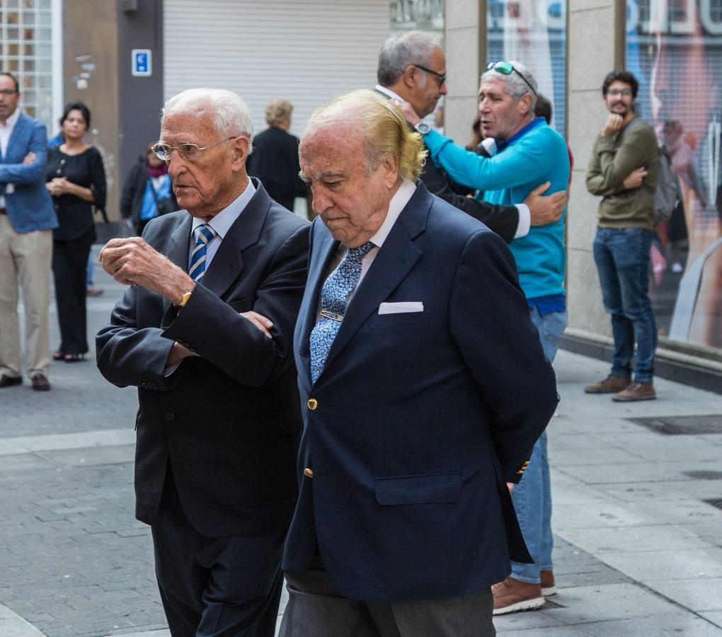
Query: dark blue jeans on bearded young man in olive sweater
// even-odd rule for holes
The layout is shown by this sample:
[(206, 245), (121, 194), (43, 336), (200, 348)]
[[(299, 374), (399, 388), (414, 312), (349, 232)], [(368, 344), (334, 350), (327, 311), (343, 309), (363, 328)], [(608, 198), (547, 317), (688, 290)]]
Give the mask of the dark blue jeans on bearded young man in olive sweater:
[(654, 376), (657, 326), (649, 300), (649, 251), (652, 231), (644, 228), (597, 228), (594, 261), (599, 270), (604, 309), (612, 315), (612, 376), (630, 378), (637, 341), (635, 381)]

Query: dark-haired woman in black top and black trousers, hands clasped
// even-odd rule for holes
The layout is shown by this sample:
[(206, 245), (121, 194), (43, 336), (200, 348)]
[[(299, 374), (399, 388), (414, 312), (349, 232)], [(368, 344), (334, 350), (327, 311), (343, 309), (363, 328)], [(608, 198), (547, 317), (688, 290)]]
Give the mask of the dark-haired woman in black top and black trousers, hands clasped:
[(83, 141), (90, 126), (87, 106), (66, 105), (60, 125), (65, 142), (48, 152), (45, 173), (59, 223), (53, 230), (53, 278), (61, 343), (53, 358), (73, 363), (88, 350), (85, 265), (95, 240), (92, 208), (105, 207), (105, 170), (100, 152)]

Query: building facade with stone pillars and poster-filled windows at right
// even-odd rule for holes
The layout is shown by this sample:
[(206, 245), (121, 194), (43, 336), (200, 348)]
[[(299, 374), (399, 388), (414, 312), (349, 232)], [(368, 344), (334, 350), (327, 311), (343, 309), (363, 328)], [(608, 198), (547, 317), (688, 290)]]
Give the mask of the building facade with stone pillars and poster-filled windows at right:
[(554, 104), (575, 164), (567, 209), (565, 345), (611, 358), (611, 329), (592, 257), (599, 200), (586, 165), (607, 112), (601, 83), (627, 68), (638, 113), (670, 149), (682, 202), (656, 228), (651, 297), (658, 370), (708, 373), (722, 391), (722, 1), (448, 0), (446, 130), (465, 143), (487, 60), (517, 59)]

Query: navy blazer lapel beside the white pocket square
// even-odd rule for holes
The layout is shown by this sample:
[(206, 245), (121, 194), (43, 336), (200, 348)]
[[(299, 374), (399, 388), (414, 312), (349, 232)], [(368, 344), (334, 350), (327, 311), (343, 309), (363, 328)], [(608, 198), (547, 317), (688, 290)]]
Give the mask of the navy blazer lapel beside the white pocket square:
[(329, 350), (326, 369), (419, 260), (422, 251), (414, 243), (414, 238), (425, 230), (432, 202), (429, 191), (419, 181), (416, 192), (401, 211), (399, 219), (391, 228), (391, 233), (349, 303), (344, 321)]

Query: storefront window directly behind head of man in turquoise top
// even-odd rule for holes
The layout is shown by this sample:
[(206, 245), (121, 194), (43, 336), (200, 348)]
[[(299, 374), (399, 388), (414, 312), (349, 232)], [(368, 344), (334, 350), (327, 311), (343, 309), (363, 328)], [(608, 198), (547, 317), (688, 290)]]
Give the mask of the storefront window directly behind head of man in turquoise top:
[(552, 103), (552, 126), (565, 134), (567, 4), (564, 0), (489, 0), (487, 60), (516, 60)]

